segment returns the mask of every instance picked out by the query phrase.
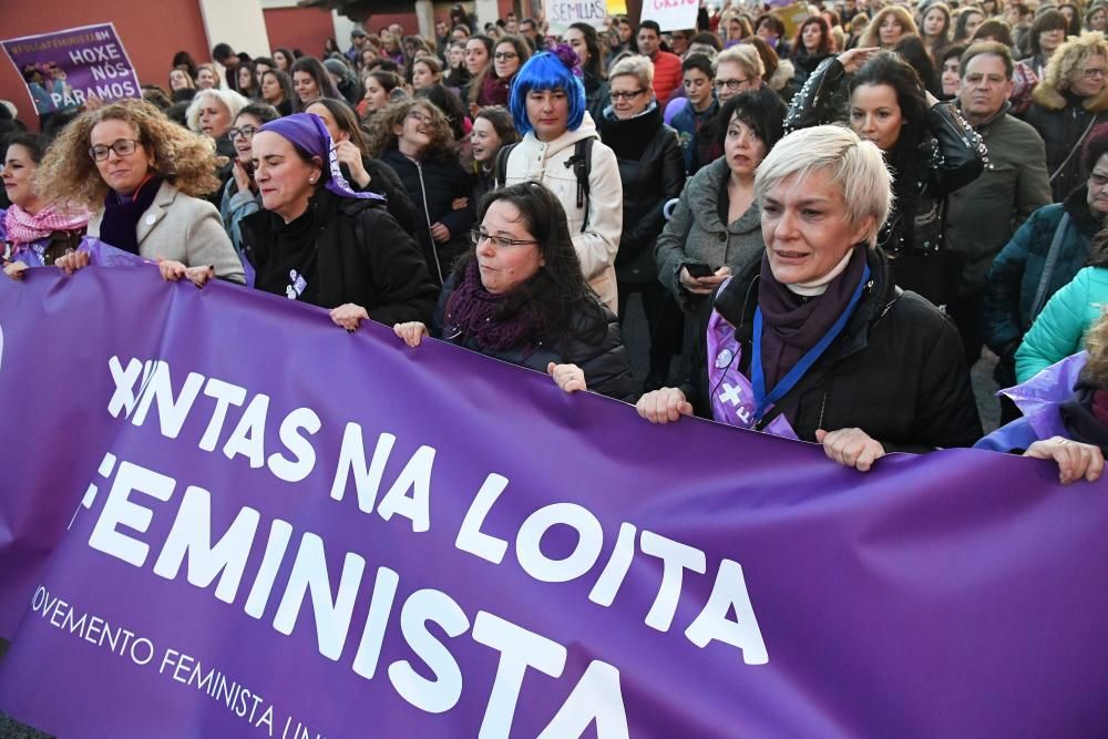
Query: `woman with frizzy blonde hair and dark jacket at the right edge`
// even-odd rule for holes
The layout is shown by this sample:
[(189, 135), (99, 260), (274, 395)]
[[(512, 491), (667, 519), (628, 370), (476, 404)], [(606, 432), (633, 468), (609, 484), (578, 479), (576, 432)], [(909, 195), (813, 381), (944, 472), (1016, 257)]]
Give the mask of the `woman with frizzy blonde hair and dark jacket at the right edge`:
[(1032, 93), (1027, 122), (1046, 143), (1046, 167), (1055, 203), (1081, 184), (1081, 145), (1108, 121), (1108, 42), (1102, 33), (1066, 41)]

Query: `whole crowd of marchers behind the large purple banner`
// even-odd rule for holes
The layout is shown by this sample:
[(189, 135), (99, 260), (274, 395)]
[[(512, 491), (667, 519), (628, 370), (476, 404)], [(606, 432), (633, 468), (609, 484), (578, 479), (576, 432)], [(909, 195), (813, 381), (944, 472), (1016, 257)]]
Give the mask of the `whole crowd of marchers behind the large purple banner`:
[[(614, 17), (554, 37), (458, 6), (433, 39), (179, 52), (142, 100), (40, 134), (0, 120), (4, 271), (73, 274), (99, 238), (168, 280), (432, 336), (655, 423), (695, 413), (862, 471), (977, 443), (1097, 479), (1108, 2), (809, 12), (790, 29), (725, 2), (686, 30)], [(1057, 433), (982, 440), (985, 346), (1002, 387), (1087, 358)], [(1002, 400), (1026, 430), (1022, 411)]]

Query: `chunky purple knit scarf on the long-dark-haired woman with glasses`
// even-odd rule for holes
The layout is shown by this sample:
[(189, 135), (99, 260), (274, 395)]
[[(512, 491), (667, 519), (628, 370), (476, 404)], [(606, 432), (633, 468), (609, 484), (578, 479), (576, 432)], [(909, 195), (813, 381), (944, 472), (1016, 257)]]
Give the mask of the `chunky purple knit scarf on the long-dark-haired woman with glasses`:
[[(478, 260), (471, 259), (465, 274), (447, 301), (444, 325), (454, 326), (489, 351), (503, 351), (538, 341), (541, 321), (531, 300), (523, 300), (517, 310), (509, 312), (511, 294), (492, 294), (481, 284)], [(512, 301), (515, 302), (515, 301)]]

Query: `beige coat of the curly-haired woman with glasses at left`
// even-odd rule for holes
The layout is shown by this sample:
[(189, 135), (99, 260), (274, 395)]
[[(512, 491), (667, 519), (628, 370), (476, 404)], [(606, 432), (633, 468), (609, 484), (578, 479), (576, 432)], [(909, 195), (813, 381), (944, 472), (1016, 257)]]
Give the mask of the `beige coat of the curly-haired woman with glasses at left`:
[[(89, 236), (100, 237), (103, 217), (103, 208), (92, 214)], [(246, 281), (216, 207), (185, 195), (170, 182), (158, 187), (154, 202), (138, 218), (137, 228), (138, 256), (143, 259), (157, 261), (164, 257), (186, 267), (212, 265), (217, 277), (240, 285)]]

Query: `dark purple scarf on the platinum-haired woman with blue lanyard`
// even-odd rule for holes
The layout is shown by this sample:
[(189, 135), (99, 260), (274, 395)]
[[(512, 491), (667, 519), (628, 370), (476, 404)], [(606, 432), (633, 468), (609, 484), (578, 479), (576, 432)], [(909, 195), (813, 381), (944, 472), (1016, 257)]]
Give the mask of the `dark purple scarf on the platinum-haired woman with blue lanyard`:
[(767, 392), (847, 309), (865, 269), (865, 245), (855, 246), (847, 268), (831, 280), (823, 295), (812, 298), (802, 298), (773, 279), (769, 257), (762, 256), (758, 307), (762, 314), (761, 359)]

